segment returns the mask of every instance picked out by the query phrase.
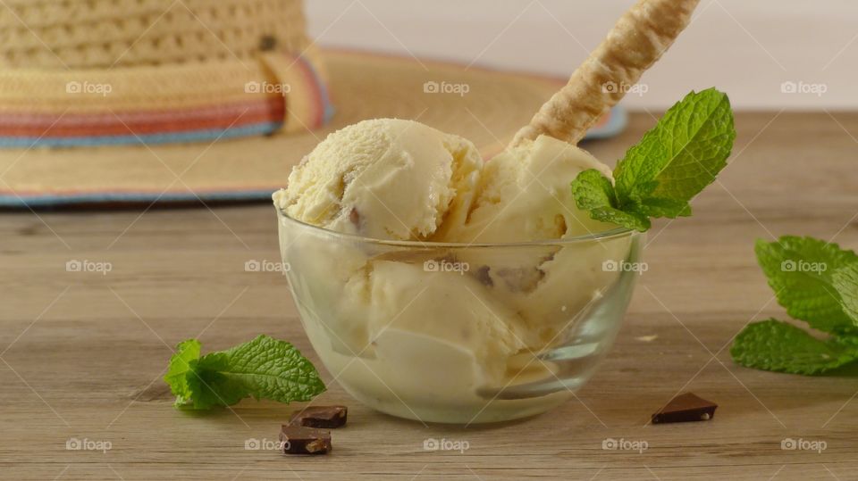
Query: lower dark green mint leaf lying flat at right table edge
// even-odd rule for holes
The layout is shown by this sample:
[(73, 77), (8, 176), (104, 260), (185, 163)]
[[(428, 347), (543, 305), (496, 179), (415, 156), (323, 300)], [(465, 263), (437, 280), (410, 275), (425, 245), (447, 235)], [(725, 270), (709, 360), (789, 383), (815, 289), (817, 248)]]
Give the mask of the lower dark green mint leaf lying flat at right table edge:
[(745, 327), (730, 355), (748, 368), (812, 375), (858, 359), (858, 343), (837, 337), (822, 341), (792, 324), (768, 319)]

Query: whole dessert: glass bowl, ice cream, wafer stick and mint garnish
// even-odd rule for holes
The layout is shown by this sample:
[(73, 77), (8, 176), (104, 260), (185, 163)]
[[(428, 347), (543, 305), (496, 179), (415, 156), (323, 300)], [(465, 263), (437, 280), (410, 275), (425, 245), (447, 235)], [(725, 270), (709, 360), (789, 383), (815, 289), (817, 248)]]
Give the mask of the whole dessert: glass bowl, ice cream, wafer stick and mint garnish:
[(611, 170), (576, 146), (672, 43), (696, 1), (641, 0), (506, 150), (412, 120), (326, 137), (274, 194), (290, 289), (332, 377), (424, 422), (564, 402), (609, 351), (651, 217), (726, 164), (726, 95), (689, 94)]

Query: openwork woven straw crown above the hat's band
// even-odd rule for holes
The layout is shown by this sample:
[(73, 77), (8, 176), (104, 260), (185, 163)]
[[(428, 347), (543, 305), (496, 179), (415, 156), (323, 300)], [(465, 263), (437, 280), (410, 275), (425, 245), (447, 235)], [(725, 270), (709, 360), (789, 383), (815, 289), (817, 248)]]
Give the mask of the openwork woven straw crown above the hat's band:
[(300, 0), (4, 0), (0, 68), (245, 60), (310, 46)]

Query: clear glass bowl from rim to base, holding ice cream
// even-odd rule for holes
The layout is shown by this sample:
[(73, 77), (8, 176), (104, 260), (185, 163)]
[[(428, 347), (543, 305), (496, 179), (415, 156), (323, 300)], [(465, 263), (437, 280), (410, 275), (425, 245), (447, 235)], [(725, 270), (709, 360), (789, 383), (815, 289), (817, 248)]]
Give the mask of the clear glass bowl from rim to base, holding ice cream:
[(644, 264), (625, 228), (516, 244), (386, 241), (290, 219), (282, 259), (301, 323), (358, 401), (482, 423), (548, 411), (593, 376)]

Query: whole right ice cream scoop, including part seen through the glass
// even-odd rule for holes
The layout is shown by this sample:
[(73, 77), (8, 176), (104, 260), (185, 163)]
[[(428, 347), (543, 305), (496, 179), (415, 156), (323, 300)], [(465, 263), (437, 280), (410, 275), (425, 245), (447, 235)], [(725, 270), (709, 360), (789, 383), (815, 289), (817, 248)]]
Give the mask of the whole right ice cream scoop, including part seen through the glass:
[[(439, 240), (513, 243), (562, 239), (616, 226), (590, 219), (576, 207), (571, 183), (583, 170), (611, 178), (610, 168), (575, 145), (553, 137), (525, 140), (485, 163), (467, 222), (445, 225)], [(515, 256), (470, 250), (463, 254), (481, 272), (493, 298), (518, 312), (523, 336), (534, 351), (557, 344), (570, 325), (569, 313), (598, 299), (616, 276), (606, 260), (625, 258), (625, 239), (518, 249)]]

